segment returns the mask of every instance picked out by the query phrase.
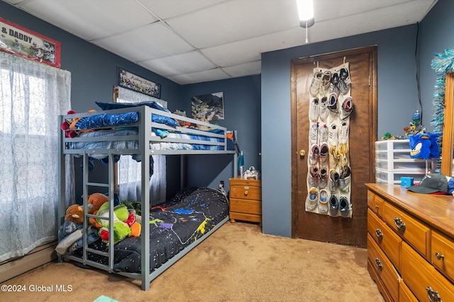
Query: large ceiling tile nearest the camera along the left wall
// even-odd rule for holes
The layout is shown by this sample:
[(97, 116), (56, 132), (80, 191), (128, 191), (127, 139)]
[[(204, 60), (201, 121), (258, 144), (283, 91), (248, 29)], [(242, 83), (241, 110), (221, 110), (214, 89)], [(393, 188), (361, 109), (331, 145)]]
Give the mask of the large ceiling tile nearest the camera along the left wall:
[(18, 7), (84, 40), (123, 33), (157, 21), (135, 1), (33, 0)]

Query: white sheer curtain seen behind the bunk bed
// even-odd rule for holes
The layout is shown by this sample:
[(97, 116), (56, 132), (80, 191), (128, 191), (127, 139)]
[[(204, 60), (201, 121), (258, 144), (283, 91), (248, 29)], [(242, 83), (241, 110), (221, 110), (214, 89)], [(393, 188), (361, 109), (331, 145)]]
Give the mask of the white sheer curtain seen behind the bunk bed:
[[(154, 100), (167, 108), (167, 102), (150, 97), (143, 93), (116, 87), (117, 102), (140, 103)], [(165, 201), (166, 192), (166, 160), (165, 156), (153, 156), (153, 175), (150, 178), (150, 204), (158, 204)], [(120, 199), (129, 202), (140, 201), (140, 163), (134, 161), (131, 156), (121, 156), (118, 161), (118, 185)]]

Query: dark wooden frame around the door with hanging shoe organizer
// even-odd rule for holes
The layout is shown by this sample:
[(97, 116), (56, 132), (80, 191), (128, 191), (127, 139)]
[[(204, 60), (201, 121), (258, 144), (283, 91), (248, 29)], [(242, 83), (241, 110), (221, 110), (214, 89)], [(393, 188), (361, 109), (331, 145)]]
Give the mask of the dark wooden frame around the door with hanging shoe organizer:
[[(297, 146), (297, 79), (296, 65), (316, 64), (316, 62), (335, 59), (338, 57), (352, 56), (356, 54), (370, 53), (369, 59), (369, 100), (370, 100), (370, 119), (369, 119), (369, 162), (375, 162), (375, 141), (377, 141), (377, 45), (359, 47), (351, 50), (318, 54), (310, 57), (292, 59), (290, 69), (290, 95), (291, 95), (291, 137), (292, 137), (292, 238), (299, 238), (299, 213), (297, 200), (297, 161), (299, 161), (299, 150)], [(309, 131), (309, 129), (308, 129)], [(369, 166), (369, 182), (375, 182), (375, 165)]]

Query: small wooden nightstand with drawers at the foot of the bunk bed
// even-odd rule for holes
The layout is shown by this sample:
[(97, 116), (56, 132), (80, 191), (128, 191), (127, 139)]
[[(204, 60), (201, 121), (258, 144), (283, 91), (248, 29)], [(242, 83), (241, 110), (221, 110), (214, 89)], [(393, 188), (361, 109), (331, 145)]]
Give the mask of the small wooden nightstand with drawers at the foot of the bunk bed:
[(230, 178), (230, 221), (258, 222), (262, 225), (262, 182)]

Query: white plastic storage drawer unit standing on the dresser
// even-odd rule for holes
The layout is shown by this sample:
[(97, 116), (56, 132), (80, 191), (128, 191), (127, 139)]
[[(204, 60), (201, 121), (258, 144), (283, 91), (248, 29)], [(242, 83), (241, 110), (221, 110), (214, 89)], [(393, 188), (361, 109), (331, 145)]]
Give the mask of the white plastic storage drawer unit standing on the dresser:
[(375, 141), (375, 182), (400, 184), (400, 178), (422, 180), (435, 170), (436, 160), (410, 158), (409, 139)]

